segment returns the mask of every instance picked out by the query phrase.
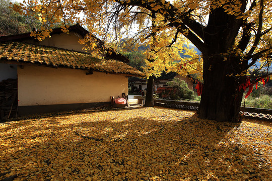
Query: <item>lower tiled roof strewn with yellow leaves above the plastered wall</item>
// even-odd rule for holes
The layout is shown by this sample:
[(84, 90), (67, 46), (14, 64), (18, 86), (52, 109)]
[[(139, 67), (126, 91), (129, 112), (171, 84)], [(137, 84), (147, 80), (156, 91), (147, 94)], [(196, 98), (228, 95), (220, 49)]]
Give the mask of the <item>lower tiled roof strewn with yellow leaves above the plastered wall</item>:
[(0, 60), (143, 76), (141, 71), (118, 60), (98, 59), (87, 53), (21, 42), (0, 43)]

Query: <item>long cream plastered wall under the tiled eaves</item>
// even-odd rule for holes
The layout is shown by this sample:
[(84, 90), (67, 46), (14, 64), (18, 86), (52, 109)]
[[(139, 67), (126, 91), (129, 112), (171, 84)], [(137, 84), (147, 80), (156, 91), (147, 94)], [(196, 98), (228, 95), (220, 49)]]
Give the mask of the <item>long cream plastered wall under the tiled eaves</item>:
[(110, 102), (110, 96), (128, 94), (127, 84), (120, 74), (25, 65), (18, 67), (18, 105)]

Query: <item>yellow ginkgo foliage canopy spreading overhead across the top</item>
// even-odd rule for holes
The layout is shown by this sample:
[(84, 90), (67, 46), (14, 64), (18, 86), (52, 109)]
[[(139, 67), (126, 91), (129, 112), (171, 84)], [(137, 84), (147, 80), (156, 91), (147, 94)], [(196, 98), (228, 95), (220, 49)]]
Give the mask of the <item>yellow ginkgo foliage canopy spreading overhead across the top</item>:
[[(234, 33), (230, 33), (230, 36), (236, 38), (226, 52), (220, 52), (220, 56), (226, 57), (228, 61), (231, 61), (228, 56), (240, 56), (240, 64), (248, 61), (249, 67), (259, 62), (255, 68), (261, 71), (271, 66), (272, 12), (271, 3), (267, 0), (186, 0), (171, 3), (165, 0), (28, 0), (20, 6), (14, 5), (13, 9), (26, 15), (36, 12), (35, 15), (44, 25), (42, 32), (36, 35), (38, 40), (49, 36), (50, 28), (55, 23), (62, 24), (63, 31), (67, 32), (66, 25), (82, 22), (107, 46), (118, 47), (120, 51), (131, 48), (130, 43), (134, 48), (144, 45), (147, 47), (147, 59), (154, 61), (148, 63), (147, 76), (159, 75), (165, 69), (184, 75), (199, 73), (201, 76), (201, 55), (184, 45), (188, 47), (190, 43), (194, 44), (203, 55), (210, 51), (207, 37), (217, 32), (208, 29), (222, 26), (220, 19), (213, 20), (211, 17), (216, 11), (223, 11), (230, 17), (226, 29), (233, 29)], [(152, 13), (156, 14), (156, 18), (152, 18)], [(152, 26), (152, 22), (155, 26)], [(239, 26), (234, 29), (232, 23)], [(125, 44), (122, 41), (124, 38), (133, 41)], [(89, 41), (87, 37), (81, 43)], [(222, 44), (224, 46), (224, 42)], [(181, 52), (190, 58), (181, 58)], [(235, 72), (235, 75), (245, 75), (249, 67)]]

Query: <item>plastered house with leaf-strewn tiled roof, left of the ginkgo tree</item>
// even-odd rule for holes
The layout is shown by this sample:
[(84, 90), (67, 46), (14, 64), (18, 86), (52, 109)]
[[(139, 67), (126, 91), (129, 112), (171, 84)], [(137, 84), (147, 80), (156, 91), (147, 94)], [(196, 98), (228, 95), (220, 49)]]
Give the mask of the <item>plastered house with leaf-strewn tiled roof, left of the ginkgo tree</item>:
[[(92, 57), (78, 42), (89, 32), (79, 25), (69, 30), (53, 29), (51, 38), (43, 41), (29, 33), (0, 37), (2, 118), (12, 110), (26, 115), (109, 105), (110, 96), (128, 94), (128, 77), (143, 75), (114, 50), (107, 50), (103, 59)], [(11, 89), (9, 78), (18, 78)], [(10, 108), (6, 103), (13, 99)]]

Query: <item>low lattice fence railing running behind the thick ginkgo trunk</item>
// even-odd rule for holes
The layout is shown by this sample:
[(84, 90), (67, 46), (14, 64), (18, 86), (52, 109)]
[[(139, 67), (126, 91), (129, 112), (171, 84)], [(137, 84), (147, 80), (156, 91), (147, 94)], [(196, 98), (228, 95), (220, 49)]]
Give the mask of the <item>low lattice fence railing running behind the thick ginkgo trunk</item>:
[[(161, 107), (167, 107), (167, 108), (197, 111), (199, 108), (199, 105), (200, 103), (154, 99), (154, 106), (161, 106)], [(240, 112), (245, 117), (268, 119), (272, 121), (271, 109), (241, 107)]]

